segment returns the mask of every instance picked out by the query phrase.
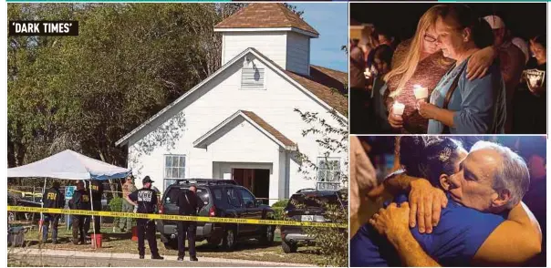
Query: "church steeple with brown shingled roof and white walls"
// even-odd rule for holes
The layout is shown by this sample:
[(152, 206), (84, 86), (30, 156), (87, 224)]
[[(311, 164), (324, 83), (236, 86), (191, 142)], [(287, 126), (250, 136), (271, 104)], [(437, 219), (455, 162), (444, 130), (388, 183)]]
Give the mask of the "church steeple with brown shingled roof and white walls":
[(281, 3), (251, 4), (214, 26), (222, 32), (222, 64), (247, 47), (302, 75), (310, 73), (310, 38), (319, 33)]

